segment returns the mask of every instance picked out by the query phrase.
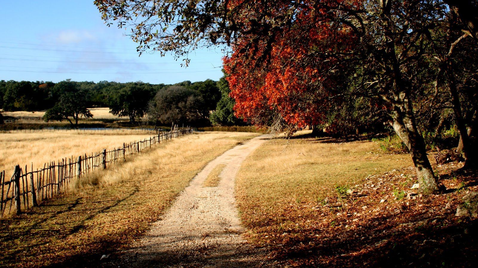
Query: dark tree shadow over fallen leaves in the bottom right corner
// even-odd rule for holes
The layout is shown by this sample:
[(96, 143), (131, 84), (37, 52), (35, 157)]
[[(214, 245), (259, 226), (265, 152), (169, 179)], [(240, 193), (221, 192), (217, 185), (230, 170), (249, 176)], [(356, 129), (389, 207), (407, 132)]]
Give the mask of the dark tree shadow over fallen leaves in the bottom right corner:
[[(455, 218), (453, 214), (429, 216), (413, 211), (404, 214), (401, 222), (392, 223), (395, 219), (392, 215), (377, 216), (354, 229), (337, 227), (328, 236), (291, 240), (282, 249), (276, 249), (277, 260), (293, 260), (303, 267), (476, 265), (478, 219)], [(313, 232), (320, 234), (323, 230)]]

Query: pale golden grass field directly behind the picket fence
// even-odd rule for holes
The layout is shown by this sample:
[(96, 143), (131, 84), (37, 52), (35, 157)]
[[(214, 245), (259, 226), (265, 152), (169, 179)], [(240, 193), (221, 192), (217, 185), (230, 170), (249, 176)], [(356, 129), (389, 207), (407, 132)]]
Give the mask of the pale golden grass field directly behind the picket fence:
[(76, 131), (51, 130), (23, 133), (0, 133), (0, 170), (13, 174), (15, 165), (28, 169), (61, 158), (100, 152), (103, 148), (120, 147), (123, 143), (143, 140), (152, 134), (141, 130)]

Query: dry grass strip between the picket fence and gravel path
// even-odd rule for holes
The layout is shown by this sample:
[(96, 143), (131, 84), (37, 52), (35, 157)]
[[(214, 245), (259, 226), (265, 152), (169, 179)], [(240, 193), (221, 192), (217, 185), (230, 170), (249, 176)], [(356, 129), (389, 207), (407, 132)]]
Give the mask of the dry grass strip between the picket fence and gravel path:
[(250, 133), (201, 133), (143, 151), (27, 214), (0, 220), (0, 266), (99, 266), (161, 218), (212, 159)]

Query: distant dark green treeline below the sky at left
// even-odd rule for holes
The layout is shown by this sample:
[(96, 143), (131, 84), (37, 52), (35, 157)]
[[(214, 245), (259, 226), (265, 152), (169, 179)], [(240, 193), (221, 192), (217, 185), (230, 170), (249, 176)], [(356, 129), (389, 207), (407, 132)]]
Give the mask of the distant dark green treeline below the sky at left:
[(234, 102), (228, 94), (224, 78), (176, 84), (1, 80), (0, 108), (47, 110), (46, 121), (67, 120), (71, 124), (77, 124), (79, 117), (92, 116), (87, 107), (109, 107), (110, 113), (128, 117), (133, 124), (143, 120), (149, 124), (209, 125), (210, 117), (212, 124), (240, 123), (232, 113)]

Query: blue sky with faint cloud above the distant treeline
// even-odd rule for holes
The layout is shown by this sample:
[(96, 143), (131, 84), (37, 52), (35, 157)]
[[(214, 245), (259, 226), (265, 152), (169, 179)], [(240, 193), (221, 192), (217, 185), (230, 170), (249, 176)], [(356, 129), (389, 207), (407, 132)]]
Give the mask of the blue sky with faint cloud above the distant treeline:
[(138, 57), (124, 30), (108, 27), (93, 0), (1, 0), (0, 80), (142, 81), (218, 80), (219, 48), (197, 50), (184, 68), (173, 56)]

